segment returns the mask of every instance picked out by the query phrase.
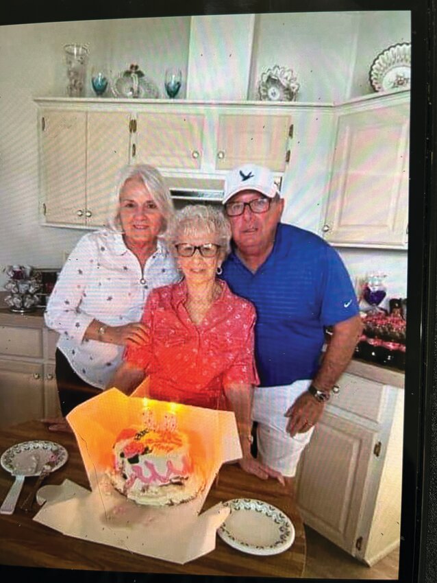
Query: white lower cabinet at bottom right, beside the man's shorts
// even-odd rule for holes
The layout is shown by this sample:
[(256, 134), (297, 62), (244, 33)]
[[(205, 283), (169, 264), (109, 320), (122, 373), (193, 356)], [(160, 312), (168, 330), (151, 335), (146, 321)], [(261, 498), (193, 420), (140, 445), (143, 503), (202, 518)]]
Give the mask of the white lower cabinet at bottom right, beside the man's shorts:
[(403, 389), (343, 374), (296, 477), (304, 523), (374, 564), (399, 545)]

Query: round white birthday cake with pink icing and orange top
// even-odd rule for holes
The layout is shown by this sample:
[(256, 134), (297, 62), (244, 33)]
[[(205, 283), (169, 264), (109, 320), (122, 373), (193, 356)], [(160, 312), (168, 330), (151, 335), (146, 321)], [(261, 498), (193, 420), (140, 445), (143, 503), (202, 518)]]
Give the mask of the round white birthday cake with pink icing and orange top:
[(119, 433), (112, 452), (112, 484), (138, 504), (180, 504), (205, 485), (182, 431), (129, 427)]

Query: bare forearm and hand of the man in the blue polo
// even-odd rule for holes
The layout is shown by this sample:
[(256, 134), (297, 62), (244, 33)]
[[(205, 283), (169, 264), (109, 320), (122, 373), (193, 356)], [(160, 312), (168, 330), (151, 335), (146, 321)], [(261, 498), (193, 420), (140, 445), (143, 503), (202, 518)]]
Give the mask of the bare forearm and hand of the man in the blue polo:
[[(316, 389), (327, 393), (332, 391), (340, 374), (349, 364), (361, 332), (360, 316), (353, 316), (334, 324), (332, 338), (321, 367), (312, 381)], [(325, 403), (319, 403), (310, 392), (301, 394), (286, 412), (286, 417), (290, 418), (286, 427), (290, 436), (311, 429), (321, 417), (324, 408)]]

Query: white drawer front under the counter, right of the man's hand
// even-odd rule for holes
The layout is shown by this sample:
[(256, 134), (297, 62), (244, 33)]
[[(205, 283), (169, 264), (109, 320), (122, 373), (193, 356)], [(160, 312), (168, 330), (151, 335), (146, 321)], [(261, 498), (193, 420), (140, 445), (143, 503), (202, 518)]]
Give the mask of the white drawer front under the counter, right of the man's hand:
[(386, 401), (384, 385), (351, 374), (342, 374), (337, 384), (339, 392), (332, 395), (328, 409), (338, 407), (381, 423)]

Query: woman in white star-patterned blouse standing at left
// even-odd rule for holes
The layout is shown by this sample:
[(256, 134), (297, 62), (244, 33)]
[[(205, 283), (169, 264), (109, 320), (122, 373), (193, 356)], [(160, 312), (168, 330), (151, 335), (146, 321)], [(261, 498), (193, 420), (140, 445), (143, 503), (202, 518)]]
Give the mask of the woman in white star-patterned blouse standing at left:
[(109, 206), (108, 228), (79, 240), (45, 313), (60, 333), (55, 374), (64, 416), (105, 388), (127, 346), (147, 341), (139, 320), (149, 293), (179, 278), (162, 240), (174, 209), (159, 171), (123, 167)]

